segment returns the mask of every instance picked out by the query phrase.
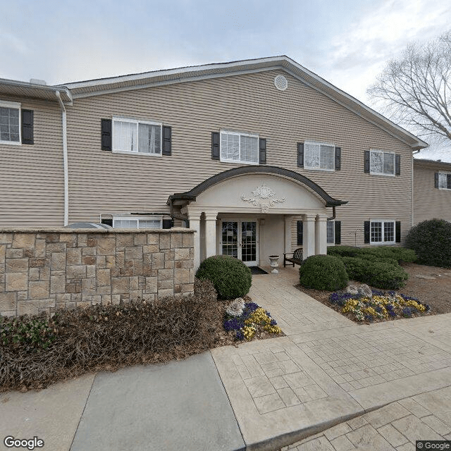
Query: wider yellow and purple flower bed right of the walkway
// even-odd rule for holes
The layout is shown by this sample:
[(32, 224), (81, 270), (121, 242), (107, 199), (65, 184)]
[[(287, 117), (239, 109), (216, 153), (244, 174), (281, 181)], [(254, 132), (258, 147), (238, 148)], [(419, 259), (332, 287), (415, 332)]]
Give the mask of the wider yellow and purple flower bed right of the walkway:
[(387, 321), (396, 318), (412, 318), (428, 313), (430, 307), (416, 297), (397, 294), (395, 291), (371, 290), (372, 296), (352, 295), (349, 292), (333, 292), (329, 302), (338, 311), (354, 321)]

